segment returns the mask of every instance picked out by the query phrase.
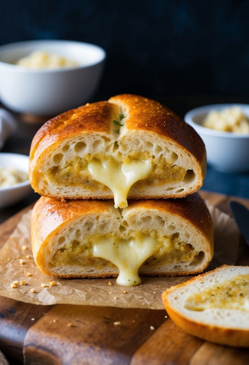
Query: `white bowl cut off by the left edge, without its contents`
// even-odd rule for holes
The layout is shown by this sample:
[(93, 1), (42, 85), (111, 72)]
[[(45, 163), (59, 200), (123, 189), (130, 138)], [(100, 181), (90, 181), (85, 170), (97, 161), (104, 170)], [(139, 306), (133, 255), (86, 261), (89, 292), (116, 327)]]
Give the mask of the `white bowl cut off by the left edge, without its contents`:
[[(18, 170), (28, 173), (28, 156), (18, 153), (0, 153), (0, 165), (14, 166)], [(0, 187), (0, 209), (24, 199), (31, 191), (29, 180), (10, 187)]]

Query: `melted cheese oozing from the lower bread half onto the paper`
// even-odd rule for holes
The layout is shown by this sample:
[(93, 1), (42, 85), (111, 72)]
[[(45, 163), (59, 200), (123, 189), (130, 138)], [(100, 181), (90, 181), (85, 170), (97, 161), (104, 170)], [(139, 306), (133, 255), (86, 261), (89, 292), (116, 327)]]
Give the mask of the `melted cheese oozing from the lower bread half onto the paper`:
[(136, 238), (116, 239), (110, 243), (109, 237), (100, 237), (93, 246), (93, 255), (111, 261), (118, 267), (117, 284), (128, 287), (140, 284), (138, 269), (154, 253), (158, 240), (139, 234)]

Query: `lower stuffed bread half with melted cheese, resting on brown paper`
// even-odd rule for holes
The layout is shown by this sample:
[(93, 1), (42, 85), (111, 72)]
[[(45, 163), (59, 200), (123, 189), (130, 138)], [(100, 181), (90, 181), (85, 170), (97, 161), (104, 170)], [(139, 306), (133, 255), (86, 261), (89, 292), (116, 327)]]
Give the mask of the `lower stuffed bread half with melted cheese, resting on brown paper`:
[(38, 268), (55, 277), (116, 277), (138, 285), (139, 275), (202, 272), (213, 256), (209, 212), (197, 195), (133, 200), (115, 209), (111, 200), (41, 197), (31, 215), (32, 251)]

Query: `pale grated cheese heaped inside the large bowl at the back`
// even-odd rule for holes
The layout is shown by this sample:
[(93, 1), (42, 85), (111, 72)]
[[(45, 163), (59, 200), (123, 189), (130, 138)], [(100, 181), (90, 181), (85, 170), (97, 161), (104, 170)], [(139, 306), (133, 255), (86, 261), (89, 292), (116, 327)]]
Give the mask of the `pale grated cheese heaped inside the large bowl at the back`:
[(20, 58), (16, 65), (31, 69), (58, 69), (78, 66), (75, 61), (44, 51), (34, 51), (30, 55)]

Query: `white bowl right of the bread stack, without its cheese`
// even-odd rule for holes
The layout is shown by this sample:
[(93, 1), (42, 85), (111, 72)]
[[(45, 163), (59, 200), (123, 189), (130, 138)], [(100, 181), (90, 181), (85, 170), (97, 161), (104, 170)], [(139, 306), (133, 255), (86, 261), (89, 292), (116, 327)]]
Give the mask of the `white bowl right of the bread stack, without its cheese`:
[(223, 132), (200, 125), (211, 110), (222, 110), (234, 106), (241, 107), (249, 118), (248, 104), (204, 105), (187, 112), (185, 122), (190, 124), (202, 138), (207, 150), (207, 162), (222, 172), (249, 171), (249, 134)]

